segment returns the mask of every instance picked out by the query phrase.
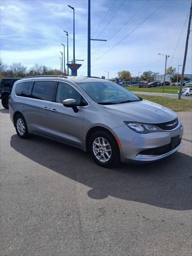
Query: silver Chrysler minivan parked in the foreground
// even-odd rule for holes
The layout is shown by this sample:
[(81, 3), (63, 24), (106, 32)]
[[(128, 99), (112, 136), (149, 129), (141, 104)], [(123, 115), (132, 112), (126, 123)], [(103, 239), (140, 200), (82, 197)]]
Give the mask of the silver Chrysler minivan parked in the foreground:
[(172, 110), (105, 79), (27, 77), (14, 83), (9, 108), (20, 138), (68, 143), (105, 167), (157, 161), (181, 147), (183, 126)]

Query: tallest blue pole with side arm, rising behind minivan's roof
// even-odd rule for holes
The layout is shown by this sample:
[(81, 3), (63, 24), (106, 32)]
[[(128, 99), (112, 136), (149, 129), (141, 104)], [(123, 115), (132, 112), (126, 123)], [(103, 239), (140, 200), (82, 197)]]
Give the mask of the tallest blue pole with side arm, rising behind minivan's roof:
[(91, 40), (107, 41), (102, 39), (91, 39), (91, 0), (88, 0), (88, 31), (87, 31), (87, 76), (91, 76)]

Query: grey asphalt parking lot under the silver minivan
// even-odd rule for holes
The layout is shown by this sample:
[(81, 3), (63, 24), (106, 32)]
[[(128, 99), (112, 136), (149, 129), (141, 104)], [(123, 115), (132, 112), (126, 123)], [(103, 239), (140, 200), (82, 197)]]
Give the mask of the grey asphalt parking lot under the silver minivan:
[(178, 153), (109, 170), (59, 142), (20, 139), (1, 107), (1, 255), (191, 255), (191, 113), (179, 116)]

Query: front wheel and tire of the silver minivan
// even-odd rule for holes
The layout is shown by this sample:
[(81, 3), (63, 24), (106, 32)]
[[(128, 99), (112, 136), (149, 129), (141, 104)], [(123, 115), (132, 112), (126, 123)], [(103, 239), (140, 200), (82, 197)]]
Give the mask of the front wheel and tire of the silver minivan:
[(117, 141), (107, 131), (97, 131), (91, 135), (89, 152), (95, 163), (103, 167), (115, 166), (120, 161)]

